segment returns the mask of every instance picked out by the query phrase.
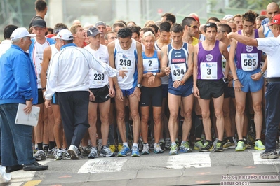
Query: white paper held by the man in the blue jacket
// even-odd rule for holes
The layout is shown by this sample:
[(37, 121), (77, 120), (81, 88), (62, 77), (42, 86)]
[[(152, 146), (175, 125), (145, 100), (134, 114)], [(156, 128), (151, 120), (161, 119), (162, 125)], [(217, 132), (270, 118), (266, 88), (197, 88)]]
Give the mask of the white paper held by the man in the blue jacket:
[(38, 106), (32, 106), (31, 113), (26, 114), (23, 112), (23, 108), (25, 108), (25, 106), (25, 104), (18, 104), (18, 112), (15, 117), (15, 123), (36, 127), (39, 120), (40, 108)]

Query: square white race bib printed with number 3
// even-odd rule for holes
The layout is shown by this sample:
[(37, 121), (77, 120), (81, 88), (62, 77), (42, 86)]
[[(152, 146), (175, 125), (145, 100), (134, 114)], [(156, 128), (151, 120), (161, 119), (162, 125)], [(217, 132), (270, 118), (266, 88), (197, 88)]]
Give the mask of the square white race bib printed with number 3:
[(217, 80), (217, 62), (201, 62), (200, 72), (202, 80)]

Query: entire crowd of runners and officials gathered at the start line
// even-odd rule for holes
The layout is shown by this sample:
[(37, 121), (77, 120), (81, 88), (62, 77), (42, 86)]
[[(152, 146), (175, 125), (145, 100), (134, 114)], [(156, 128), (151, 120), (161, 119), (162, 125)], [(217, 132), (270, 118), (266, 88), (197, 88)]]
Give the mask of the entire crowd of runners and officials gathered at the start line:
[[(254, 148), (261, 158), (279, 157), (277, 3), (267, 5), (266, 15), (248, 10), (207, 22), (196, 13), (182, 22), (165, 13), (144, 26), (75, 20), (53, 28), (44, 21), (46, 1), (35, 7), (28, 32), (8, 25), (0, 44), (1, 159), (7, 171), (48, 169), (34, 159), (140, 157), (164, 150), (178, 155)], [(36, 127), (14, 124), (18, 103), (27, 104), (25, 113), (32, 104), (40, 107)]]

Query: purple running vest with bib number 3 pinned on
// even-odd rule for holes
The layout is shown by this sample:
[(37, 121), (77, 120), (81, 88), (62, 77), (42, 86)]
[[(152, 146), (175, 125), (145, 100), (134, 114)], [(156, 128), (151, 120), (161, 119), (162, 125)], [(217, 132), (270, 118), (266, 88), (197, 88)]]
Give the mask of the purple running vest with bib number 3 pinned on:
[(220, 80), (224, 77), (219, 43), (220, 41), (215, 41), (215, 46), (210, 51), (204, 50), (202, 42), (199, 43), (199, 53), (197, 55), (198, 80)]

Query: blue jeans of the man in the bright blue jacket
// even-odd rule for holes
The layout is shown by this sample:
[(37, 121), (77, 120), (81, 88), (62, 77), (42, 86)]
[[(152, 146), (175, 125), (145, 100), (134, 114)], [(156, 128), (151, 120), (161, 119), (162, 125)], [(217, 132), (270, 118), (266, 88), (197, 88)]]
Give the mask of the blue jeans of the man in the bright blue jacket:
[(0, 105), (2, 166), (33, 164), (32, 126), (15, 124), (18, 103)]

